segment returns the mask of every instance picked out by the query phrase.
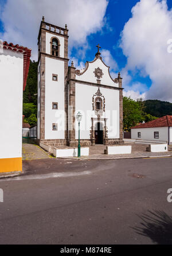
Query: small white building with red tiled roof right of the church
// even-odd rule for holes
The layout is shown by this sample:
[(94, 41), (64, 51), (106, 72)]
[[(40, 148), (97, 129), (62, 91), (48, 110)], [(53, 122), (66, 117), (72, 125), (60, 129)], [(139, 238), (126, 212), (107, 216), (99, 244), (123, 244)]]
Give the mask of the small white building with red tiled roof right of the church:
[(172, 145), (172, 115), (131, 128), (131, 139), (162, 141)]

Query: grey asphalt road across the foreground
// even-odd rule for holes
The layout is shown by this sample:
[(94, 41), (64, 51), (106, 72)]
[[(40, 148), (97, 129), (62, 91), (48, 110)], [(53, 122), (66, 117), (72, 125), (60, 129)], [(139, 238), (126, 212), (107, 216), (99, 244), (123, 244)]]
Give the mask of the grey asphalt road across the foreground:
[(172, 244), (172, 158), (35, 160), (0, 180), (1, 244)]

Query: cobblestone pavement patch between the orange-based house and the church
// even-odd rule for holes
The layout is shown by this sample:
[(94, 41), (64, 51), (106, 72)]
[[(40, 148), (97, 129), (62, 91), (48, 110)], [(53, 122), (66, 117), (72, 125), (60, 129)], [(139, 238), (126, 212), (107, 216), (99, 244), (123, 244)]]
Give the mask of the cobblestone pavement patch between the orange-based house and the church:
[(22, 157), (23, 160), (36, 160), (50, 158), (50, 155), (37, 145), (24, 143), (22, 145)]

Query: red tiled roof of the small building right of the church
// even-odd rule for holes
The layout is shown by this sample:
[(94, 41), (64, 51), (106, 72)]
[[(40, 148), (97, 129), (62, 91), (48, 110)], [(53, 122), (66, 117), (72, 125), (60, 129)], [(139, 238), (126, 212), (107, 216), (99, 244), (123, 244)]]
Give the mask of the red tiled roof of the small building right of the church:
[(154, 127), (172, 127), (172, 115), (165, 115), (165, 117), (161, 117), (147, 123), (142, 123), (141, 125), (137, 125), (131, 129)]

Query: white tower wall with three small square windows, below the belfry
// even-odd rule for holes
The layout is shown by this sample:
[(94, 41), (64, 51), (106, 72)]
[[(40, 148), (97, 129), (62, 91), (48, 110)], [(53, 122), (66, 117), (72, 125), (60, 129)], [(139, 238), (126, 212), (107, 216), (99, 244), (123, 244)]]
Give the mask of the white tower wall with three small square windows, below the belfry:
[[(58, 81), (52, 80), (52, 74), (58, 75)], [(58, 110), (52, 110), (52, 102), (58, 103)], [(45, 57), (45, 139), (64, 139), (64, 61)], [(52, 130), (52, 124), (58, 124), (58, 130)]]

